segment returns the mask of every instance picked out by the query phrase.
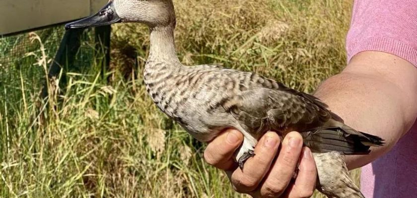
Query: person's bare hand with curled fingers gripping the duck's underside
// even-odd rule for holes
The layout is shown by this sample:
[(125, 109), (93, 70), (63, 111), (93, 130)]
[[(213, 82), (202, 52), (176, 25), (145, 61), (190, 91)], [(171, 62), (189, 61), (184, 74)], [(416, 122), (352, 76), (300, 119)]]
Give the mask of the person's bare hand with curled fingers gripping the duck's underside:
[[(229, 129), (211, 141), (204, 152), (207, 163), (225, 170), (235, 191), (254, 198), (311, 197), (316, 187), (316, 164), (310, 149), (302, 147), (299, 133), (290, 132), (285, 136), (278, 156), (278, 134), (266, 133), (254, 149), (255, 156), (240, 170), (233, 153), (242, 141), (242, 133)], [(297, 163), (299, 171), (294, 181), (291, 179)]]

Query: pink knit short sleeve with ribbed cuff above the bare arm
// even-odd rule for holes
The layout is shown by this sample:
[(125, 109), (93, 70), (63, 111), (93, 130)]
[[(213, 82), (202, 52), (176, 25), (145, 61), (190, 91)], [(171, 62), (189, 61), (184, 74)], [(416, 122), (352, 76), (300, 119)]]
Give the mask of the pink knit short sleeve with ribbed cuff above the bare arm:
[(346, 48), (348, 61), (384, 51), (417, 66), (417, 0), (355, 0)]

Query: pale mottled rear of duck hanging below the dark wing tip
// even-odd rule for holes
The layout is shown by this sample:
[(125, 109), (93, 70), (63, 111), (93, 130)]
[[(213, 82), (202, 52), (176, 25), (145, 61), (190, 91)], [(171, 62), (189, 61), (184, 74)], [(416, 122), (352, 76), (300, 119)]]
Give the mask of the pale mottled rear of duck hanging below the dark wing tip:
[(328, 198), (364, 198), (350, 179), (341, 153), (313, 153), (313, 157), (317, 166), (317, 190)]

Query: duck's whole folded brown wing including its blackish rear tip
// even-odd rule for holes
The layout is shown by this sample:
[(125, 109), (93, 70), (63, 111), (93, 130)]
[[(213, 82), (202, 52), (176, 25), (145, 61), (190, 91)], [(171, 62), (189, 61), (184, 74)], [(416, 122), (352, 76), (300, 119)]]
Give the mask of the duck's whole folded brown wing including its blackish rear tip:
[(345, 154), (366, 154), (370, 146), (383, 144), (379, 137), (345, 125), (319, 99), (284, 86), (244, 91), (230, 104), (226, 108), (256, 138), (267, 130), (282, 135), (298, 131), (304, 145), (314, 152), (336, 150)]

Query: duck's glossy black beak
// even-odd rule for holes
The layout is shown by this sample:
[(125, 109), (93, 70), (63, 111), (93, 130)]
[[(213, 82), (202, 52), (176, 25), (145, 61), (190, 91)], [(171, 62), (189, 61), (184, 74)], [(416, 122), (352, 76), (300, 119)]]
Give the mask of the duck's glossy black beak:
[(101, 25), (119, 23), (122, 19), (117, 15), (113, 1), (106, 4), (98, 13), (65, 25), (65, 29), (82, 29)]

